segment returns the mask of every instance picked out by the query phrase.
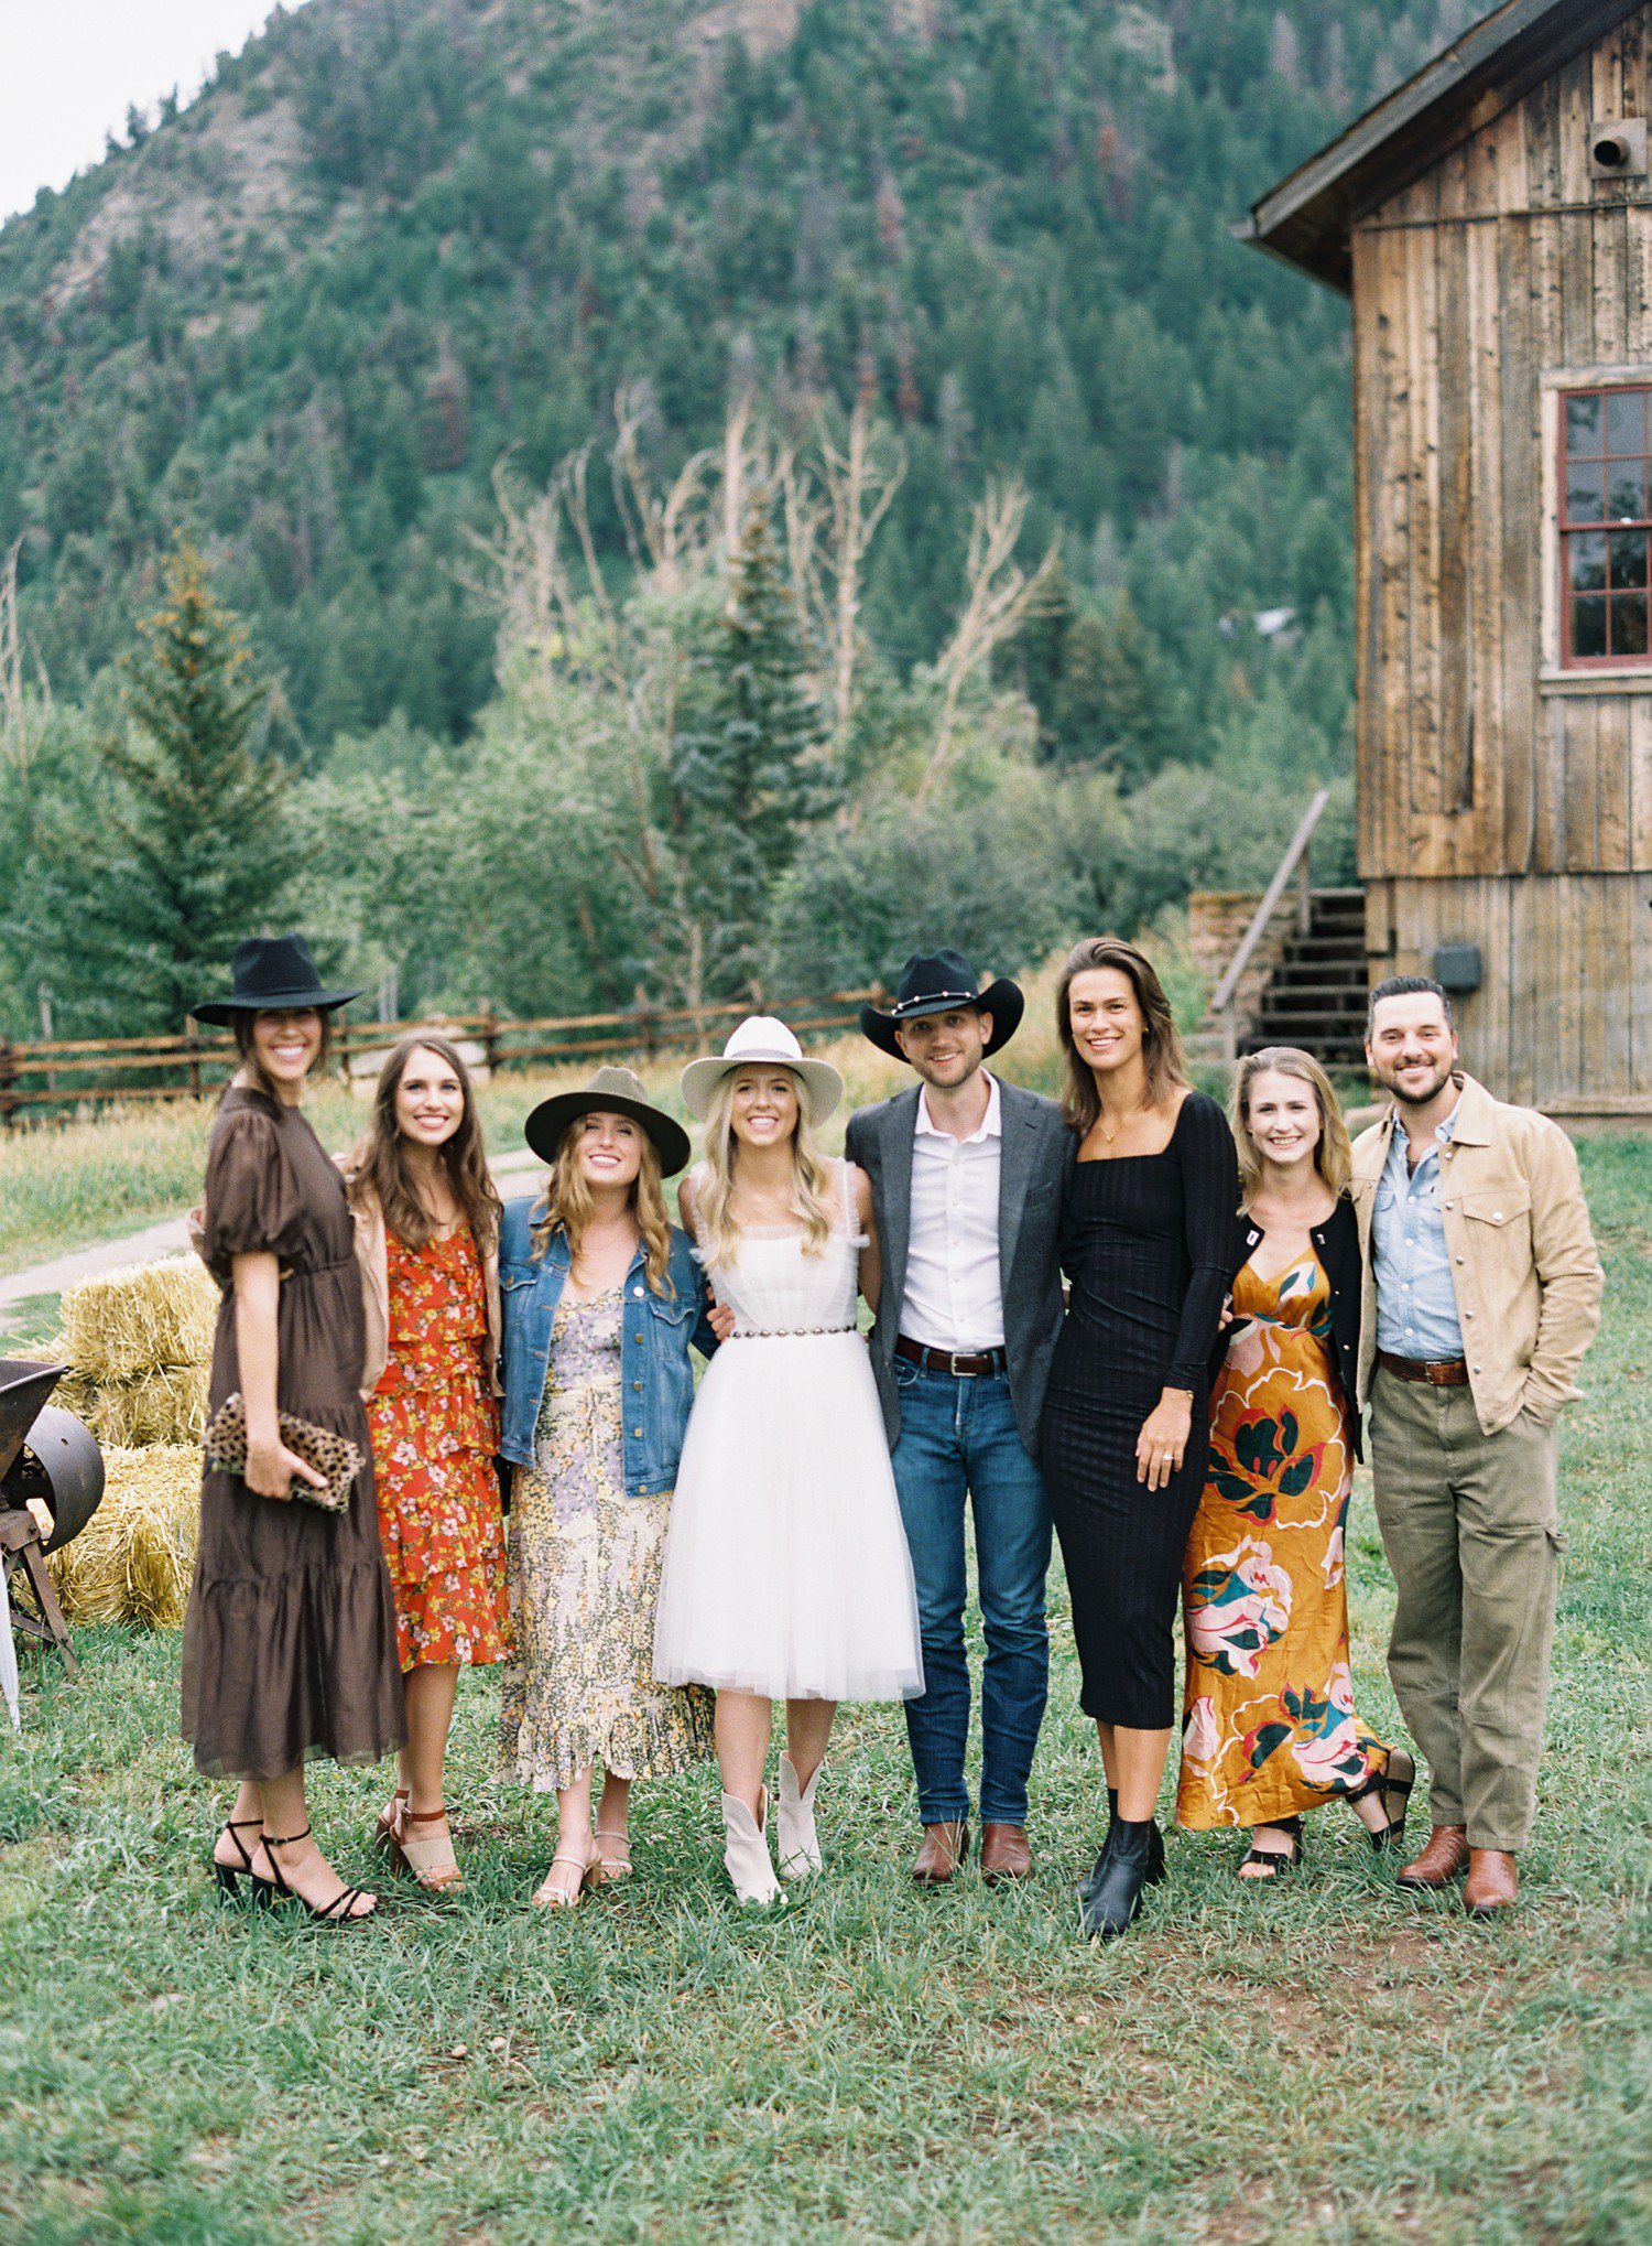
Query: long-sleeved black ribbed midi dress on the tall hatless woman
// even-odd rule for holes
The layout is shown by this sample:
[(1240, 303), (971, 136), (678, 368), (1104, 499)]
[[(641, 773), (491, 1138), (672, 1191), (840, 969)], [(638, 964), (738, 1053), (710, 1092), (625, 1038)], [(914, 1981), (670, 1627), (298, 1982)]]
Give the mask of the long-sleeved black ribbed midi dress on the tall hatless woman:
[[(1176, 1597), (1205, 1487), (1210, 1352), (1228, 1291), (1239, 1161), (1221, 1107), (1190, 1092), (1163, 1154), (1066, 1175), (1071, 1296), (1044, 1402), (1041, 1453), (1073, 1592), (1082, 1709), (1163, 1732), (1176, 1720)], [(1136, 1437), (1163, 1388), (1192, 1388), (1181, 1469), (1136, 1480)]]

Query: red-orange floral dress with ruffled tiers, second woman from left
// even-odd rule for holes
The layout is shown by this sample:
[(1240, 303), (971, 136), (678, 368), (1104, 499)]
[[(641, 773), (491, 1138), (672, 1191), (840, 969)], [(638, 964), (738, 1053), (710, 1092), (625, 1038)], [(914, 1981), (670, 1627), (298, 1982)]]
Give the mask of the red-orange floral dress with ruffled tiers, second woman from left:
[(384, 1244), (391, 1359), (368, 1404), (379, 1536), (402, 1669), (503, 1662), (510, 1651), (505, 1516), (487, 1377), (487, 1300), (469, 1224)]

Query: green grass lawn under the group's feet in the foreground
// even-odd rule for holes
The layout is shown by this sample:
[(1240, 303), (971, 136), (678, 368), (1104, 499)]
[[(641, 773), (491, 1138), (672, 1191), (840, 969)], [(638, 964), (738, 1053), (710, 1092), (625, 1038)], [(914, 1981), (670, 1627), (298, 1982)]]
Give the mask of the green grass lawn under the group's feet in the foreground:
[[(1542, 1808), (1515, 1920), (1405, 1902), (1347, 1813), (1277, 1891), (1176, 1837), (1131, 1938), (1075, 1941), (1100, 1772), (1064, 1601), (1039, 1873), (925, 1896), (900, 1716), (848, 1711), (826, 1875), (743, 1916), (716, 1779), (642, 1792), (628, 1889), (543, 1918), (545, 1815), (462, 1693), (469, 1893), (346, 1936), (215, 1905), (224, 1795), (177, 1640), (85, 1631), (0, 1747), (0, 2235), (247, 2242), (1645, 2239), (1652, 1150), (1585, 1150), (1609, 1258), (1569, 1419)], [(1389, 1583), (1349, 1568), (1362, 1711)], [(1059, 1583), (1059, 1570), (1053, 1588)], [(350, 1878), (384, 1779), (319, 1770)]]

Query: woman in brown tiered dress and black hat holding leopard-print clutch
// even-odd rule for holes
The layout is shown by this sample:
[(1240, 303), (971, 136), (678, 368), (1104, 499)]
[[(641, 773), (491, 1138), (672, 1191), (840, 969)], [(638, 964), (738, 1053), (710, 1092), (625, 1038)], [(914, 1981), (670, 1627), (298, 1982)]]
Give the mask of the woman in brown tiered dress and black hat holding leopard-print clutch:
[[(218, 1882), (296, 1896), (316, 1918), (366, 1918), (316, 1848), (303, 1765), (377, 1763), (402, 1745), (395, 1606), (379, 1552), (361, 1408), (361, 1282), (343, 1179), (299, 1112), (325, 1051), (323, 990), (303, 937), (236, 946), (233, 990), (195, 1008), (236, 1031), (240, 1067), (206, 1148), (202, 1251), (222, 1287), (209, 1410), (240, 1393), (247, 1469), (202, 1476), (200, 1550), (184, 1617), (184, 1738), (209, 1777), (240, 1781), (213, 1846)], [(332, 1428), (364, 1453), (350, 1507), (290, 1496), (316, 1482), (276, 1413)]]

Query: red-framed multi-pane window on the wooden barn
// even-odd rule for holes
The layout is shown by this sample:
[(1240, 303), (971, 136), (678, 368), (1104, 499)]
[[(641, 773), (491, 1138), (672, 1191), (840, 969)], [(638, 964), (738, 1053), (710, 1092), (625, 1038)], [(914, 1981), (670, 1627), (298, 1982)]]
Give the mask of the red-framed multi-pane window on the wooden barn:
[(1652, 649), (1652, 384), (1560, 400), (1560, 620), (1569, 669)]

